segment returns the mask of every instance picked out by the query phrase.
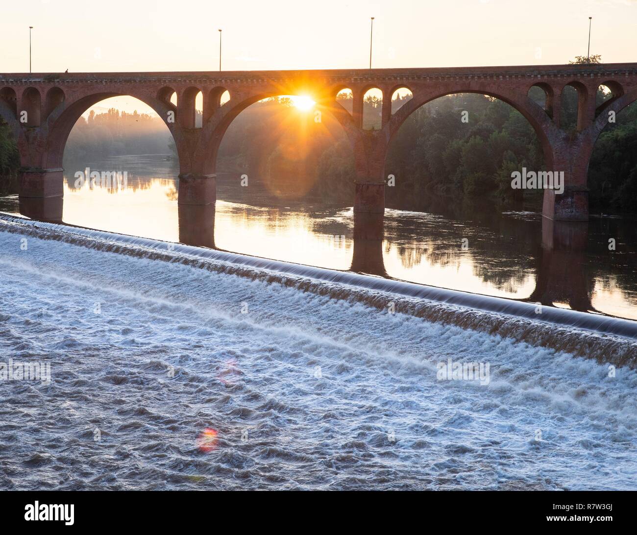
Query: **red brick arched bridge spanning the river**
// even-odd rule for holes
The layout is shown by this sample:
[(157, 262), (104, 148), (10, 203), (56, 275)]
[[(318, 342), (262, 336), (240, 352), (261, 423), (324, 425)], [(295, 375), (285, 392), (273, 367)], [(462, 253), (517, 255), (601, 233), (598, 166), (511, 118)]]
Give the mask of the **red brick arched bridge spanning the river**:
[[(576, 131), (559, 124), (561, 94), (567, 85), (578, 93)], [(612, 98), (596, 106), (599, 85)], [(527, 94), (545, 92), (544, 107)], [(394, 90), (413, 98), (392, 113)], [(362, 129), (366, 91), (382, 91), (382, 127)], [(350, 89), (349, 113), (336, 94)], [(222, 94), (230, 100), (221, 103)], [(195, 125), (195, 98), (203, 94), (203, 125)], [(177, 94), (177, 105), (171, 96)], [(478, 93), (501, 99), (518, 110), (536, 131), (547, 170), (564, 171), (563, 194), (545, 190), (543, 215), (554, 220), (587, 220), (587, 171), (593, 145), (619, 112), (637, 99), (637, 63), (476, 67), (441, 69), (355, 69), (313, 71), (222, 71), (164, 73), (1, 74), (0, 117), (17, 139), (22, 165), (21, 199), (62, 196), (62, 154), (75, 122), (90, 106), (108, 97), (132, 96), (162, 117), (178, 152), (180, 204), (215, 203), (215, 165), (224, 132), (247, 106), (279, 95), (308, 95), (317, 109), (341, 124), (354, 150), (354, 209), (382, 212), (385, 206), (385, 155), (392, 137), (409, 115), (441, 96)], [(25, 113), (24, 113), (25, 112)], [(396, 177), (399, 185), (400, 177)]]

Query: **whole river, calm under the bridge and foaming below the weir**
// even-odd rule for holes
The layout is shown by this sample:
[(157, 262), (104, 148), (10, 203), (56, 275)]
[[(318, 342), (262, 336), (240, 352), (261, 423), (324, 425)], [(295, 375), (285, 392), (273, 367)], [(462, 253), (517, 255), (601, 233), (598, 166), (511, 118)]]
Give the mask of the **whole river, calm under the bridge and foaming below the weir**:
[[(118, 166), (126, 189), (71, 175), (63, 207), (38, 208), (104, 232), (0, 218), (4, 361), (51, 369), (0, 382), (0, 488), (637, 489), (634, 338), (581, 319), (637, 317), (626, 220), (388, 210), (379, 234), (238, 176), (216, 211), (178, 210), (168, 162), (90, 164)], [(37, 212), (0, 206), (20, 209)], [(392, 279), (545, 316), (397, 297)], [(592, 312), (553, 323), (565, 308)], [(489, 373), (443, 380), (449, 359)]]

